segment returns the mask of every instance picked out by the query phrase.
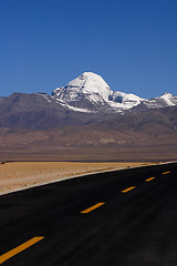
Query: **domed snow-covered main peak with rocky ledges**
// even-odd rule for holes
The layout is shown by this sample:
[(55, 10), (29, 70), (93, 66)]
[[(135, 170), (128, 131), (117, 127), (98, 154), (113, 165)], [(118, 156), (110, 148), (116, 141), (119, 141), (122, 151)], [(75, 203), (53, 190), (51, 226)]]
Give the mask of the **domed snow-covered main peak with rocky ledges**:
[(145, 99), (134, 94), (112, 91), (102, 76), (84, 72), (52, 93), (61, 105), (80, 112), (123, 112), (138, 105)]

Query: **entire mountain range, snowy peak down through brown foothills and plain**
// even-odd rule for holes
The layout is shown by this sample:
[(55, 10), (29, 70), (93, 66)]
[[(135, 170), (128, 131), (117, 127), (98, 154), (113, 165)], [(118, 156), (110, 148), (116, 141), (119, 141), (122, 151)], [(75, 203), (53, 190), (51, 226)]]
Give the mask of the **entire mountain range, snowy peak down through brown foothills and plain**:
[[(25, 154), (25, 155), (24, 155)], [(177, 158), (177, 96), (112, 91), (85, 72), (46, 93), (0, 98), (0, 160)]]

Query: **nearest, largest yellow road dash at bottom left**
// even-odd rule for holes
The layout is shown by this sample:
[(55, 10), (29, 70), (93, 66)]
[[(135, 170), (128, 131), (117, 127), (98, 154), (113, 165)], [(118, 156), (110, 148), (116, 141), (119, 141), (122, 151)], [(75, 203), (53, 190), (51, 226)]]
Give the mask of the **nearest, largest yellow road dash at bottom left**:
[(35, 243), (42, 241), (43, 236), (33, 237), (30, 241), (23, 243), (22, 245), (11, 249), (10, 252), (7, 252), (6, 254), (0, 256), (0, 264), (4, 263), (9, 258), (13, 257), (14, 255), (23, 252), (24, 249), (29, 248), (30, 246), (34, 245)]

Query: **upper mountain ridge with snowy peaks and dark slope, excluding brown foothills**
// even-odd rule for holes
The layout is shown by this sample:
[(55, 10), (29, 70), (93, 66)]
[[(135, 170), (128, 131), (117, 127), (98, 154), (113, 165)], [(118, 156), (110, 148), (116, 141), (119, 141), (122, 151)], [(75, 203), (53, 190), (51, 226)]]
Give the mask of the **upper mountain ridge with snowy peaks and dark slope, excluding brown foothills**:
[(112, 91), (102, 76), (85, 72), (63, 88), (46, 93), (13, 93), (0, 98), (0, 127), (52, 129), (86, 125), (111, 117), (176, 106), (177, 96), (150, 100)]

